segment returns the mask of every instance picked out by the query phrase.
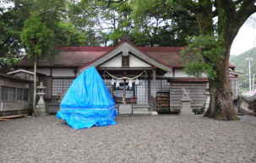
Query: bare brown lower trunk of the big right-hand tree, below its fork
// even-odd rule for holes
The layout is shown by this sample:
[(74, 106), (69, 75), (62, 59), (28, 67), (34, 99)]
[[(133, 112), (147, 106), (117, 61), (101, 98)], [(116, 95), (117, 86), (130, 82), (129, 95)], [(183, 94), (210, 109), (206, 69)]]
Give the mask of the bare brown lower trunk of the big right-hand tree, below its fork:
[(218, 120), (238, 120), (237, 112), (232, 103), (231, 84), (229, 79), (229, 52), (231, 44), (226, 48), (223, 58), (216, 63), (216, 78), (209, 79), (210, 107), (205, 112), (205, 117)]

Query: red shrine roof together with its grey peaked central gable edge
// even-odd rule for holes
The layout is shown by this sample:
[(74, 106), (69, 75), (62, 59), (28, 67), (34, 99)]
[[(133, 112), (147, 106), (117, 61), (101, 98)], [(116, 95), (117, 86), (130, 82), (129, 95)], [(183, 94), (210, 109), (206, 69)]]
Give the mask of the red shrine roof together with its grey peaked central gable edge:
[[(132, 51), (134, 55), (139, 55), (142, 60), (152, 63), (155, 67), (168, 68), (183, 68), (184, 63), (180, 56), (180, 52), (184, 47), (141, 47), (134, 46), (129, 41), (122, 41), (117, 46), (68, 46), (58, 47), (59, 54), (54, 56), (51, 62), (44, 60), (38, 63), (38, 67), (46, 68), (86, 68), (90, 65), (97, 65), (103, 62), (106, 58), (116, 55), (120, 52), (123, 46)], [(102, 58), (102, 59), (101, 59)], [(23, 59), (17, 65), (19, 68), (32, 68), (33, 61)], [(230, 68), (235, 66), (230, 64)]]

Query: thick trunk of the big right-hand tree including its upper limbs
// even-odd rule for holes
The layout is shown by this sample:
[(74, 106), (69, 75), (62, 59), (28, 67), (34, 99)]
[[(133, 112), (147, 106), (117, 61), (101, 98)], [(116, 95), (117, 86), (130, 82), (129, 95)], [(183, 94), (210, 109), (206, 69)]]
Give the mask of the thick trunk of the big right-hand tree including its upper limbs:
[[(202, 5), (200, 11), (197, 11), (196, 18), (199, 24), (201, 35), (214, 35), (213, 27), (213, 3), (210, 1), (199, 1)], [(218, 0), (216, 2), (218, 11), (218, 28), (217, 33), (219, 41), (222, 43), (224, 52), (218, 54), (219, 61), (211, 61), (215, 65), (214, 71), (216, 73), (214, 79), (209, 79), (210, 84), (210, 108), (205, 112), (205, 117), (212, 117), (218, 120), (237, 120), (237, 113), (232, 104), (231, 84), (229, 79), (229, 55), (231, 42), (235, 35), (237, 35), (237, 26), (233, 25), (231, 10), (226, 1)], [(223, 8), (224, 4), (226, 8)], [(231, 23), (232, 20), (232, 23)]]

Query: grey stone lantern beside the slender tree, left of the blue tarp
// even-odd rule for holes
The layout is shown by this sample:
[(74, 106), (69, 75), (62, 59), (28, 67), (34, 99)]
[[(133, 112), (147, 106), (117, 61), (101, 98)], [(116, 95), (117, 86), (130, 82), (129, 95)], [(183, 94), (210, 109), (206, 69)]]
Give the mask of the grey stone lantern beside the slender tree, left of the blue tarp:
[(39, 116), (45, 116), (46, 115), (46, 102), (44, 101), (44, 95), (46, 95), (45, 90), (46, 87), (41, 82), (40, 85), (37, 87), (37, 94), (39, 95), (39, 101), (37, 102), (36, 110)]

